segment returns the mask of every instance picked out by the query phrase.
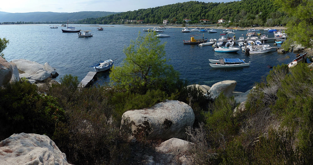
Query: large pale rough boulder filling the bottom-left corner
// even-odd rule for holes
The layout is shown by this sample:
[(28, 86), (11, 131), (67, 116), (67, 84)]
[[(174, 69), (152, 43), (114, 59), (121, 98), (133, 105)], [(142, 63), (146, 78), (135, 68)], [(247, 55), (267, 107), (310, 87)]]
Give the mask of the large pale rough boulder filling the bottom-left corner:
[(70, 165), (65, 153), (46, 135), (13, 134), (0, 142), (1, 165)]

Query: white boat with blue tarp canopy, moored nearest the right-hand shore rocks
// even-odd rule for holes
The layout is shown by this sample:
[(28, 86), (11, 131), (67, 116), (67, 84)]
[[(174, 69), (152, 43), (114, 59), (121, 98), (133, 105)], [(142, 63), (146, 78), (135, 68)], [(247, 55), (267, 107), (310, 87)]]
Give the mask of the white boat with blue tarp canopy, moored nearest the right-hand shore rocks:
[(209, 59), (210, 66), (213, 68), (230, 68), (230, 67), (241, 67), (241, 66), (249, 66), (250, 63), (244, 62), (244, 60), (240, 60), (239, 58), (223, 58), (218, 60)]

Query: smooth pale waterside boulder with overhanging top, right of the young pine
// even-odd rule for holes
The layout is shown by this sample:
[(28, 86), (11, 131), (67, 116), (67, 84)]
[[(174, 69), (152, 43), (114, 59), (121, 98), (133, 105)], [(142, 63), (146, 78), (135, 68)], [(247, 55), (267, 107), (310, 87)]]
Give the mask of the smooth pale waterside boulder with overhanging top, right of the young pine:
[(218, 97), (218, 95), (222, 92), (226, 97), (231, 97), (236, 85), (237, 81), (234, 80), (221, 81), (213, 84), (209, 92), (212, 93), (212, 98)]

